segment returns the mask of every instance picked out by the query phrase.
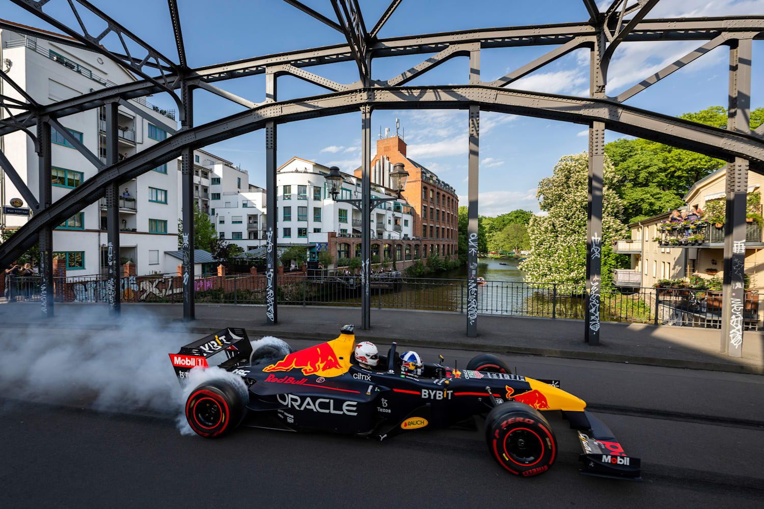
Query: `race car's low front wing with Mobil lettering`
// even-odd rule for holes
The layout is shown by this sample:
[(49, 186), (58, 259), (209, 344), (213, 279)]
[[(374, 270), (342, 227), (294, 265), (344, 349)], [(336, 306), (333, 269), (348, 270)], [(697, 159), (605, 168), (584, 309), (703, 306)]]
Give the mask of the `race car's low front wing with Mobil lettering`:
[[(583, 449), (583, 453), (578, 456), (583, 463), (582, 474), (642, 480), (639, 458), (626, 456), (623, 447), (613, 437), (613, 432), (606, 424), (588, 411), (565, 411), (563, 414), (570, 421), (571, 427), (578, 428), (578, 439), (581, 440)], [(582, 433), (582, 430), (585, 433)]]

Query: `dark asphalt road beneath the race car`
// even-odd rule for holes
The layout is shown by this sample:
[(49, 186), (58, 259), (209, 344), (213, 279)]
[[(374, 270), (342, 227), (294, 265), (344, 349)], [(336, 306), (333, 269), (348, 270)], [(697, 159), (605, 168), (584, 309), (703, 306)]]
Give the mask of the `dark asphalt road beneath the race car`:
[[(422, 430), (382, 443), (258, 429), (219, 440), (182, 436), (175, 409), (165, 411), (166, 378), (152, 379), (152, 369), (166, 369), (172, 380), (165, 343), (156, 364), (136, 365), (125, 353), (106, 358), (92, 348), (75, 349), (83, 356), (57, 352), (48, 360), (60, 369), (51, 373), (47, 357), (25, 356), (34, 349), (20, 352), (20, 334), (10, 332), (0, 337), (0, 349), (10, 352), (0, 353), (4, 507), (739, 509), (764, 500), (764, 377), (757, 375), (505, 356), (521, 375), (561, 379), (562, 388), (584, 398), (626, 452), (641, 456), (644, 482), (580, 475), (575, 432), (554, 413), (547, 417), (560, 450), (555, 465), (516, 478), (488, 456), (481, 430)], [(418, 350), (426, 360), (442, 353), (458, 366), (473, 355)], [(93, 364), (105, 372), (89, 371)], [(94, 388), (109, 375), (116, 382), (108, 394)], [(136, 385), (151, 397), (139, 398)]]

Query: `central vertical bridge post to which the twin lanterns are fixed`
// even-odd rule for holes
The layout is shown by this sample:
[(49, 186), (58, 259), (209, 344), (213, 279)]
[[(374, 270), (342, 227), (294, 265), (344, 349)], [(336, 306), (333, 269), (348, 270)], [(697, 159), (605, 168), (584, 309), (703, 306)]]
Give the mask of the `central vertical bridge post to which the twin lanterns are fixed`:
[[(361, 106), (361, 328), (371, 327), (371, 105)], [(380, 294), (381, 295), (381, 294)], [(380, 304), (381, 308), (381, 304)]]

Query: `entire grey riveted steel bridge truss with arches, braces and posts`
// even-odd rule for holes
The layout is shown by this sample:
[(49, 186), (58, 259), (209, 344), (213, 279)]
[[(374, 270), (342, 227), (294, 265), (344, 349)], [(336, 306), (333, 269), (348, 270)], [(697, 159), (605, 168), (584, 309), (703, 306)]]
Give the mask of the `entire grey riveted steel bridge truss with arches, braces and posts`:
[[(57, 27), (67, 36), (40, 33), (16, 24), (0, 21), (0, 28), (21, 34), (57, 41), (99, 53), (140, 76), (135, 82), (105, 87), (76, 98), (40, 105), (0, 70), (0, 79), (8, 83), (19, 97), (0, 95), (0, 136), (23, 131), (34, 143), (39, 156), (40, 188), (37, 195), (24, 184), (8, 159), (0, 153), (0, 166), (21, 195), (31, 205), (34, 216), (10, 239), (0, 245), (0, 263), (8, 263), (34, 243), (40, 243), (40, 275), (42, 279), (42, 315), (53, 316), (52, 229), (86, 205), (107, 199), (108, 268), (107, 301), (110, 312), (119, 313), (120, 257), (118, 189), (132, 179), (171, 159), (181, 157), (183, 203), (183, 317), (194, 318), (193, 259), (193, 150), (210, 143), (227, 140), (254, 130), (266, 132), (267, 201), (277, 201), (277, 127), (279, 124), (348, 112), (361, 112), (361, 210), (371, 213), (371, 114), (375, 109), (458, 108), (468, 110), (468, 337), (478, 334), (477, 267), (478, 267), (478, 173), (480, 112), (498, 111), (536, 118), (586, 124), (589, 127), (589, 179), (587, 218), (587, 295), (584, 340), (592, 345), (600, 342), (600, 281), (602, 249), (602, 182), (604, 166), (604, 134), (606, 129), (643, 137), (674, 147), (681, 147), (727, 161), (727, 224), (724, 240), (724, 315), (720, 350), (730, 356), (743, 351), (743, 260), (745, 243), (746, 190), (748, 169), (764, 174), (764, 126), (749, 129), (751, 93), (752, 41), (764, 39), (764, 16), (727, 16), (718, 18), (646, 19), (659, 0), (614, 0), (600, 12), (594, 0), (583, 0), (588, 21), (567, 24), (545, 24), (527, 27), (500, 27), (410, 37), (380, 39), (380, 29), (393, 15), (402, 0), (393, 0), (380, 19), (367, 30), (358, 0), (329, 0), (334, 19), (296, 0), (284, 0), (317, 21), (332, 27), (344, 37), (344, 43), (309, 50), (257, 56), (251, 59), (190, 68), (186, 63), (180, 16), (176, 0), (168, 0), (177, 62), (162, 55), (151, 45), (128, 31), (117, 21), (86, 0), (9, 0), (38, 18)], [(47, 4), (66, 4), (77, 25), (69, 26), (46, 13)], [(81, 13), (87, 11), (104, 21), (106, 28), (98, 34), (89, 30)], [(121, 43), (118, 50), (108, 49), (103, 40), (115, 34)], [(607, 95), (607, 69), (613, 53), (621, 43), (656, 40), (698, 40), (698, 49), (674, 63), (647, 76), (615, 97)], [(128, 45), (129, 43), (129, 45)], [(484, 48), (553, 47), (545, 55), (515, 69), (492, 82), (481, 80), (480, 57)], [(730, 89), (727, 129), (708, 127), (691, 121), (669, 117), (624, 104), (634, 95), (670, 76), (688, 63), (716, 47), (726, 46), (730, 53)], [(140, 48), (133, 55), (130, 47)], [(590, 94), (588, 98), (524, 92), (507, 85), (578, 49), (590, 53)], [(121, 51), (121, 52), (120, 52)], [(374, 58), (411, 54), (432, 54), (419, 65), (390, 79), (373, 79)], [(462, 85), (406, 87), (407, 82), (457, 56), (469, 59)], [(338, 83), (307, 70), (330, 63), (352, 61), (358, 66), (359, 79)], [(158, 74), (157, 74), (158, 72)], [(231, 94), (212, 85), (242, 76), (264, 74), (265, 101), (256, 102)], [(277, 79), (290, 75), (319, 85), (329, 91), (325, 95), (277, 100)], [(193, 125), (193, 91), (205, 90), (244, 106), (245, 111), (200, 126)], [(180, 93), (178, 91), (180, 90)], [(118, 162), (118, 105), (141, 114), (128, 102), (131, 98), (167, 92), (180, 111), (180, 130), (166, 127), (172, 136), (153, 147)], [(68, 115), (92, 108), (106, 111), (106, 164), (90, 153), (79, 140), (60, 124)], [(34, 130), (32, 130), (34, 127)], [(66, 137), (76, 150), (98, 170), (95, 176), (70, 191), (63, 198), (51, 198), (50, 128)], [(277, 214), (267, 217), (267, 304), (266, 320), (277, 322)], [(370, 281), (371, 240), (368, 224), (364, 224), (361, 244), (361, 321), (371, 327), (367, 282)]]

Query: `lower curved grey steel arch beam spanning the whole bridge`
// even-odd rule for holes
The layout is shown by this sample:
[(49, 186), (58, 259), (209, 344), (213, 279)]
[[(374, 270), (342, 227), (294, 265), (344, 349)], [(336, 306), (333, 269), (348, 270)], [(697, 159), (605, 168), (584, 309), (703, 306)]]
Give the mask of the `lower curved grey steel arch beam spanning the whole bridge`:
[(717, 127), (707, 127), (680, 118), (644, 111), (612, 101), (565, 95), (538, 94), (484, 85), (393, 87), (335, 92), (292, 101), (267, 103), (189, 130), (181, 131), (153, 147), (109, 166), (83, 185), (35, 214), (24, 227), (0, 245), (0, 263), (28, 249), (43, 227), (55, 226), (86, 205), (102, 198), (110, 183), (125, 182), (170, 159), (187, 147), (203, 147), (265, 127), (308, 118), (357, 112), (361, 105), (377, 109), (467, 109), (480, 105), (483, 111), (520, 114), (549, 120), (589, 124), (604, 122), (607, 129), (667, 143), (721, 159), (749, 159), (764, 167), (764, 140)]

